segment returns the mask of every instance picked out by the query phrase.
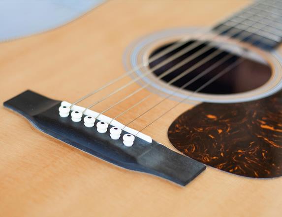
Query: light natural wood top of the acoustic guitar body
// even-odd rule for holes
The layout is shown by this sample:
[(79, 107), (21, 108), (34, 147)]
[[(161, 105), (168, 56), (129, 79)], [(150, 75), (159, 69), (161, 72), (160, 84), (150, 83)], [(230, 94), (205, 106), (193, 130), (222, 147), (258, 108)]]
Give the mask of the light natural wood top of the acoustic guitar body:
[[(74, 102), (122, 75), (125, 50), (141, 36), (168, 28), (212, 26), (248, 3), (235, 0), (103, 3), (63, 27), (1, 43), (0, 99), (6, 101), (31, 89), (53, 99)], [(280, 51), (278, 48), (277, 52)], [(80, 105), (87, 107), (131, 80), (126, 77)], [(138, 87), (138, 83), (133, 83), (116, 97), (125, 97)], [(143, 89), (107, 111), (107, 116), (118, 115), (149, 93), (150, 90)], [(160, 99), (156, 94), (144, 105), (150, 107)], [(107, 99), (94, 110), (103, 111), (114, 102), (115, 98)], [(141, 130), (176, 103), (166, 100), (130, 127)], [(142, 133), (181, 153), (171, 144), (168, 129), (181, 114), (195, 106), (182, 103)], [(143, 111), (143, 107), (136, 107), (118, 120), (127, 123)], [(11, 110), (1, 107), (0, 114), (1, 216), (282, 215), (282, 178), (278, 172), (276, 178), (255, 179), (208, 166), (186, 187), (181, 187), (157, 176), (117, 167), (38, 133)]]

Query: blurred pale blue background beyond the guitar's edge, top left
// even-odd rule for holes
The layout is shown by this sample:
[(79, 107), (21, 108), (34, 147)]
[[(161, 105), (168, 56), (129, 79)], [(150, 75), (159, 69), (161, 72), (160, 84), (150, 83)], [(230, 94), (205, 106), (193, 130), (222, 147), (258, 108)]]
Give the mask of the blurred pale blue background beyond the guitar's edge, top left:
[(63, 26), (104, 0), (0, 0), (0, 41)]

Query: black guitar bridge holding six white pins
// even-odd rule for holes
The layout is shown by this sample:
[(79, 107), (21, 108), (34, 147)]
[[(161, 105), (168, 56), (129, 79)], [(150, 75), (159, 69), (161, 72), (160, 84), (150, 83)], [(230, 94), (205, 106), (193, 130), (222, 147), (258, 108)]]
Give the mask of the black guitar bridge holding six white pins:
[[(30, 90), (4, 102), (5, 107), (22, 114), (38, 130), (126, 169), (157, 175), (185, 186), (206, 168), (205, 164), (171, 151), (154, 140), (149, 143), (135, 137), (134, 145), (126, 147), (122, 139), (111, 139), (109, 132), (100, 134), (94, 128), (85, 127), (83, 121), (73, 122), (71, 118), (60, 117), (60, 105), (61, 101)], [(124, 132), (121, 138), (123, 135)]]

